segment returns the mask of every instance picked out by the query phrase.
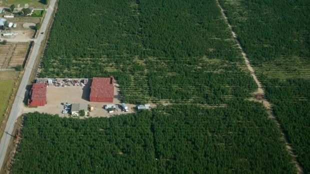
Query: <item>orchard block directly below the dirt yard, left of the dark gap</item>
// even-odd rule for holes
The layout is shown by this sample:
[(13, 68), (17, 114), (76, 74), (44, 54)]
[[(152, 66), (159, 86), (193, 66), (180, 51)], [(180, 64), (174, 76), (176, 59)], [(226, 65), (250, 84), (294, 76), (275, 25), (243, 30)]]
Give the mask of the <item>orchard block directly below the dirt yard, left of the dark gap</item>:
[(97, 119), (29, 113), (16, 174), (155, 173), (150, 112)]

